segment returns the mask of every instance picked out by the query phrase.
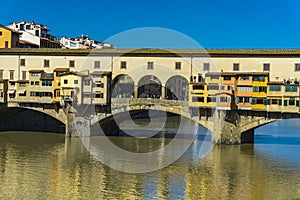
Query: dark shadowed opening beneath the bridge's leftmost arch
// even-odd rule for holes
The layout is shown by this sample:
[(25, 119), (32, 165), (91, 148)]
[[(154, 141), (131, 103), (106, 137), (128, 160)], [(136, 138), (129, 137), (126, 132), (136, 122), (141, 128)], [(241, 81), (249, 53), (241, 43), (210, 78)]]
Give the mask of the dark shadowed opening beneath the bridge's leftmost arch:
[(0, 131), (49, 132), (65, 134), (65, 124), (39, 111), (1, 108)]

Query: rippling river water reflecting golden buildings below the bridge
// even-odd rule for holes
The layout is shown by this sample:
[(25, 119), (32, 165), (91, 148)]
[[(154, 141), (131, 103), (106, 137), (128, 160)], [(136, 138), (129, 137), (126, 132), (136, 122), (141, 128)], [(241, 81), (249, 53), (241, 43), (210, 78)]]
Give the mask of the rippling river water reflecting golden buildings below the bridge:
[[(203, 159), (197, 156), (201, 142), (194, 142), (170, 166), (138, 174), (102, 164), (79, 138), (2, 132), (0, 199), (299, 198), (299, 127), (299, 120), (275, 122), (256, 130), (254, 145), (215, 146)], [(135, 139), (110, 140), (133, 144)], [(162, 138), (148, 140), (153, 145)]]

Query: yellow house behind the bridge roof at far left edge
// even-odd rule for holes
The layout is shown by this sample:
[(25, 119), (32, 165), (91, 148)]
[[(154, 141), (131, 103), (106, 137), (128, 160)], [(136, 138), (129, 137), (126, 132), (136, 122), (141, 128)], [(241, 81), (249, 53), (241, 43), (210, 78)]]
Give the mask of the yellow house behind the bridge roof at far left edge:
[(0, 24), (0, 48), (18, 48), (21, 34)]

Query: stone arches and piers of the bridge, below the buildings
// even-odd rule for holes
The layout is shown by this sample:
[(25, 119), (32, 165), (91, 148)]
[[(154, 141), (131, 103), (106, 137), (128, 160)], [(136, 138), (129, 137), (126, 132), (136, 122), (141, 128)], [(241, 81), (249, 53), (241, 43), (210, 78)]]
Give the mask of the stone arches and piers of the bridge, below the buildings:
[[(190, 108), (187, 102), (179, 100), (160, 100), (160, 99), (147, 99), (147, 98), (129, 98), (129, 99), (112, 99), (112, 108), (109, 112), (96, 113), (95, 111), (89, 111), (88, 114), (84, 113), (87, 107), (74, 108), (71, 105), (66, 105), (64, 109), (55, 109), (54, 107), (38, 106), (33, 107), (30, 104), (22, 103), (10, 103), (6, 108), (1, 108), (2, 118), (10, 118), (13, 113), (21, 117), (20, 113), (25, 113), (27, 118), (27, 126), (36, 126), (38, 123), (28, 123), (29, 121), (44, 121), (46, 124), (42, 126), (48, 127), (41, 129), (42, 131), (65, 131), (66, 137), (76, 137), (83, 133), (79, 133), (77, 129), (81, 129), (82, 125), (85, 126), (84, 131), (90, 130), (89, 128), (96, 124), (111, 119), (113, 115), (120, 115), (126, 112), (142, 112), (149, 110), (163, 111), (172, 113), (190, 119), (195, 123), (207, 128), (212, 132), (212, 138), (214, 143), (225, 144), (241, 144), (241, 143), (253, 143), (254, 142), (254, 130), (260, 126), (274, 122), (280, 119), (299, 118), (298, 113), (278, 113), (267, 111), (245, 111), (245, 110), (221, 110), (216, 108)], [(93, 110), (93, 106), (89, 107), (89, 110)], [(13, 112), (12, 112), (13, 111)], [(31, 111), (31, 112), (28, 112)], [(26, 113), (27, 112), (27, 113)], [(45, 118), (38, 118), (37, 114), (46, 115)], [(10, 114), (5, 114), (10, 113)], [(55, 119), (55, 123), (48, 123)], [(24, 120), (24, 119), (23, 119)], [(1, 120), (1, 131), (8, 130), (5, 128)], [(10, 123), (12, 123), (10, 121)], [(81, 126), (78, 126), (80, 124)], [(50, 128), (49, 129), (49, 125)], [(24, 124), (18, 124), (21, 126), (20, 130), (30, 130), (24, 127)], [(53, 128), (53, 126), (59, 126), (59, 128)], [(64, 126), (65, 129), (62, 129)], [(89, 126), (87, 129), (86, 127)], [(15, 126), (16, 127), (16, 126)], [(25, 129), (24, 129), (25, 128)], [(28, 128), (28, 127), (27, 127)], [(111, 127), (110, 127), (111, 128)], [(118, 130), (118, 129), (116, 129)], [(82, 131), (82, 130), (81, 130)], [(86, 135), (87, 133), (84, 133)], [(116, 133), (117, 134), (117, 133)]]

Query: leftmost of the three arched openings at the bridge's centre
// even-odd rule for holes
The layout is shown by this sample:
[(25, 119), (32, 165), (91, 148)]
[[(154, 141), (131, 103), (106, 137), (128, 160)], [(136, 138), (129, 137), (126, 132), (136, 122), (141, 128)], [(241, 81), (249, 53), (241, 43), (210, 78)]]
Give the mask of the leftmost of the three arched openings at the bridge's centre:
[(132, 98), (133, 96), (133, 79), (126, 74), (116, 76), (112, 82), (112, 98)]

